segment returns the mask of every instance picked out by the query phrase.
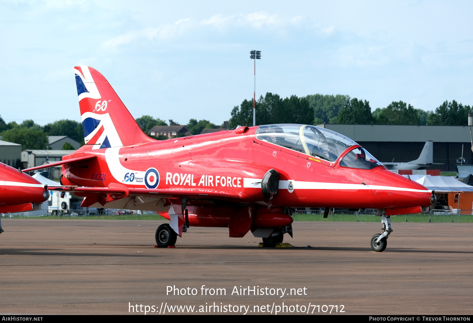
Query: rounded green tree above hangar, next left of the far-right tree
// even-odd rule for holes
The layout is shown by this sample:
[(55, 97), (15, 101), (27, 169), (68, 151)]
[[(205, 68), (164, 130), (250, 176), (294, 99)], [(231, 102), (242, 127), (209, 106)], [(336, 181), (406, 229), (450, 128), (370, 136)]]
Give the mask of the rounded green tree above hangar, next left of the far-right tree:
[[(379, 109), (379, 108), (378, 108)], [(391, 102), (383, 109), (376, 109), (373, 118), (376, 115), (378, 125), (420, 125), (419, 113), (414, 107), (406, 102)]]

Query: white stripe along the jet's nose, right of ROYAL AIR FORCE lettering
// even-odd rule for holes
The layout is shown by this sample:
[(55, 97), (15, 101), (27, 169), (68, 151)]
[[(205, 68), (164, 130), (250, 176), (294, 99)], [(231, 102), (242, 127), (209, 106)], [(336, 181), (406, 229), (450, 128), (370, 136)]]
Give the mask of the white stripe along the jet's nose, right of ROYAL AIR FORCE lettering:
[[(324, 182), (303, 182), (297, 180), (280, 180), (279, 189), (289, 187), (289, 182), (292, 182), (294, 189), (332, 189), (332, 190), (383, 190), (383, 191), (404, 191), (404, 192), (420, 192), (431, 193), (430, 189), (414, 189), (407, 187), (392, 187), (382, 185), (363, 185), (363, 184), (346, 184), (346, 183), (324, 183)], [(260, 178), (243, 178), (243, 187), (246, 188), (261, 188)]]

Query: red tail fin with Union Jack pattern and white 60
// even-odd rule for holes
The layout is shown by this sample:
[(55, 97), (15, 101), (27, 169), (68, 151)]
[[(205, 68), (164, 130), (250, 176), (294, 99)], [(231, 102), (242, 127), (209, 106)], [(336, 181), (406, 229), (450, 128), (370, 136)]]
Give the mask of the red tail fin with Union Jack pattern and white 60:
[(141, 130), (102, 74), (88, 66), (76, 66), (74, 72), (84, 141), (91, 149), (154, 141)]

